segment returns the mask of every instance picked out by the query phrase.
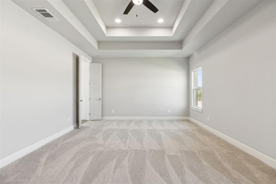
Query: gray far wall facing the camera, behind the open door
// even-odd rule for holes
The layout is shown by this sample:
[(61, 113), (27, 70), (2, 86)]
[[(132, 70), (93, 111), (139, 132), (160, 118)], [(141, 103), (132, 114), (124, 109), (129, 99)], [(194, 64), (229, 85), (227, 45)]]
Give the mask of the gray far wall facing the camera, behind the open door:
[(93, 58), (92, 62), (102, 63), (104, 117), (189, 116), (187, 58)]

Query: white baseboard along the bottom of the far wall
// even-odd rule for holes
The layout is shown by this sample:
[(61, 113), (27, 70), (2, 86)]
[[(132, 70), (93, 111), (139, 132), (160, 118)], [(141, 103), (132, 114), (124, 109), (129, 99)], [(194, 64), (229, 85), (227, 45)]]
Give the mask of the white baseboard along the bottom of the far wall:
[(102, 117), (103, 120), (189, 120), (187, 116), (164, 116), (164, 117), (147, 117), (147, 116), (125, 116), (125, 117)]

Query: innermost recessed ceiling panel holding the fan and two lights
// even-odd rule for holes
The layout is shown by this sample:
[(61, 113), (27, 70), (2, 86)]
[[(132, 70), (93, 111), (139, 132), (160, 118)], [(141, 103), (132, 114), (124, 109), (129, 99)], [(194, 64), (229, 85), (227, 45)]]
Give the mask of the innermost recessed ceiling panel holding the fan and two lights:
[[(93, 2), (106, 27), (145, 28), (172, 27), (184, 0), (151, 0), (150, 2), (159, 10), (157, 13), (153, 13), (144, 5), (135, 5), (127, 15), (124, 15), (123, 12), (130, 0), (93, 0)], [(136, 13), (138, 17), (136, 17)], [(116, 23), (114, 21), (116, 18), (119, 18), (122, 22)], [(158, 23), (157, 20), (159, 18), (162, 18), (164, 22)]]

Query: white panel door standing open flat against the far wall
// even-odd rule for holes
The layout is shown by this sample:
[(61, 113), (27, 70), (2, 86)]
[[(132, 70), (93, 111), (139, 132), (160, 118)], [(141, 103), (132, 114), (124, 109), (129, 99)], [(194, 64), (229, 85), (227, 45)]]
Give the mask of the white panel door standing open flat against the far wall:
[(90, 63), (90, 120), (102, 119), (102, 64)]

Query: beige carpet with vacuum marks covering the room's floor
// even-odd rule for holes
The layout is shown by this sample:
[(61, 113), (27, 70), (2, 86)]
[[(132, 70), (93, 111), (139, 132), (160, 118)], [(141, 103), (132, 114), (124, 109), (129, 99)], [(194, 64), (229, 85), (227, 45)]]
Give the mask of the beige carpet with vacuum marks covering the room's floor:
[(0, 183), (276, 183), (190, 121), (89, 121), (0, 170)]

